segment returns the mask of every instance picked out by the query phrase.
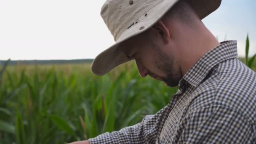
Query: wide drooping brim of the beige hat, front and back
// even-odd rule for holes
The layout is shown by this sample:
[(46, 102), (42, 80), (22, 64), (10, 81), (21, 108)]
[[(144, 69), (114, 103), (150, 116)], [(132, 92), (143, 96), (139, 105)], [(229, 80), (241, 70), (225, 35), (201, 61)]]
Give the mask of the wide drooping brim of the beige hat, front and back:
[[(128, 40), (135, 35), (139, 35), (145, 32), (147, 29), (152, 27), (157, 21), (159, 21), (165, 13), (177, 2), (178, 0), (162, 0), (160, 3), (155, 5), (149, 11), (147, 11), (147, 16), (139, 18), (138, 23), (134, 24), (129, 29), (125, 29), (120, 37), (117, 39), (116, 43), (111, 47), (107, 48), (105, 51), (101, 52), (93, 60), (91, 70), (96, 75), (105, 75), (113, 68), (127, 61), (128, 58), (123, 51), (121, 51), (120, 43)], [(219, 8), (221, 0), (188, 0), (192, 7), (195, 9), (196, 13), (200, 19), (205, 18), (210, 13)], [(141, 29), (141, 27), (144, 27)]]

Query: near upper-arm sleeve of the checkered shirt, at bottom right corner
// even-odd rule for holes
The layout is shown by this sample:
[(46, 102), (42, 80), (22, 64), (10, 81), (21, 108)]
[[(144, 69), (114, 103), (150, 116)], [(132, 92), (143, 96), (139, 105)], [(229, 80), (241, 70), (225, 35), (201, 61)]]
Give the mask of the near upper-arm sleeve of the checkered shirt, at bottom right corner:
[(255, 141), (253, 123), (235, 109), (214, 106), (189, 113), (183, 120), (178, 143), (248, 144)]

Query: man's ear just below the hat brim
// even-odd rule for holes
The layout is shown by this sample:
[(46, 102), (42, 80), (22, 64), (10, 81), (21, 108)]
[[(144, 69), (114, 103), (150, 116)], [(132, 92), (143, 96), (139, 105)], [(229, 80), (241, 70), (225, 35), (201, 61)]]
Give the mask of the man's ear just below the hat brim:
[(163, 21), (158, 21), (152, 28), (158, 31), (158, 34), (163, 38), (163, 42), (165, 44), (169, 43), (170, 32), (167, 25), (165, 25)]

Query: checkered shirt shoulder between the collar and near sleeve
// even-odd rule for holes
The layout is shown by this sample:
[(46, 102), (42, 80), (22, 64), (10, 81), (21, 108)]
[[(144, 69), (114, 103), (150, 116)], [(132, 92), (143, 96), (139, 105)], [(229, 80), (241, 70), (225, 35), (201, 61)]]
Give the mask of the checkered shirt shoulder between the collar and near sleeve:
[(218, 64), (192, 97), (190, 110), (220, 105), (256, 122), (256, 73), (238, 59)]

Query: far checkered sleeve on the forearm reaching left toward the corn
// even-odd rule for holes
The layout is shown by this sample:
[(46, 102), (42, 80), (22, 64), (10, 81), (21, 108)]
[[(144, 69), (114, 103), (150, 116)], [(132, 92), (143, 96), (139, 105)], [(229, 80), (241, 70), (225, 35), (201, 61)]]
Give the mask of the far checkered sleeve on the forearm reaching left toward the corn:
[(146, 115), (141, 123), (122, 128), (112, 133), (106, 132), (89, 139), (90, 144), (151, 144), (156, 141), (157, 130), (164, 107), (155, 115)]

